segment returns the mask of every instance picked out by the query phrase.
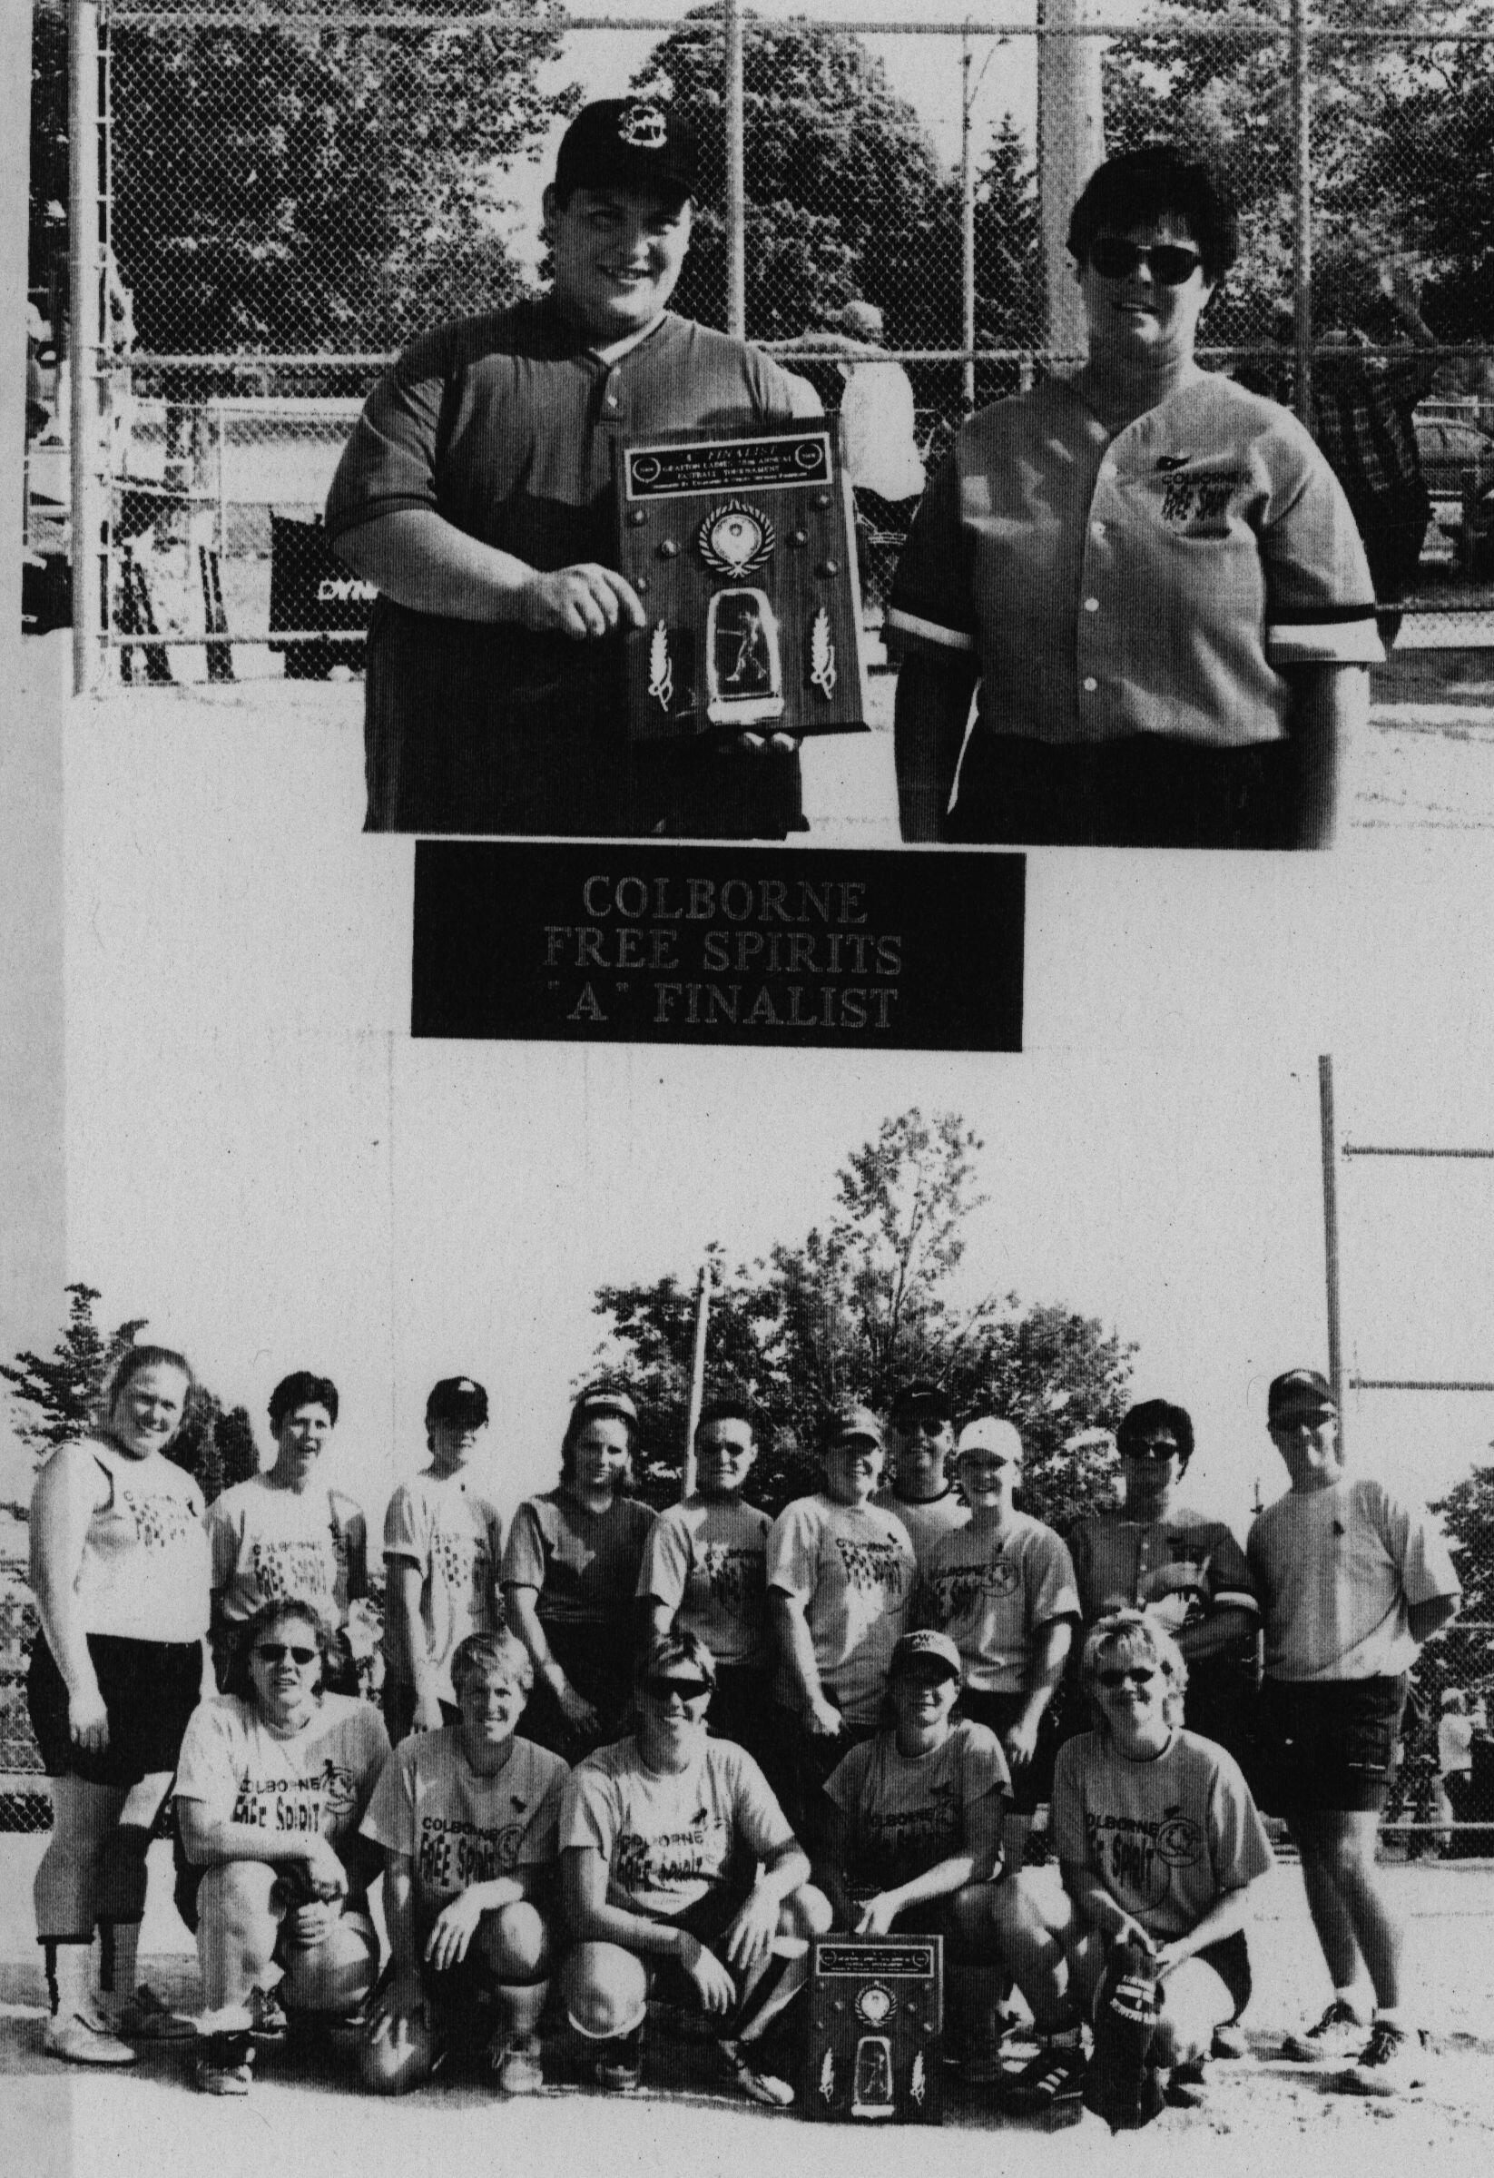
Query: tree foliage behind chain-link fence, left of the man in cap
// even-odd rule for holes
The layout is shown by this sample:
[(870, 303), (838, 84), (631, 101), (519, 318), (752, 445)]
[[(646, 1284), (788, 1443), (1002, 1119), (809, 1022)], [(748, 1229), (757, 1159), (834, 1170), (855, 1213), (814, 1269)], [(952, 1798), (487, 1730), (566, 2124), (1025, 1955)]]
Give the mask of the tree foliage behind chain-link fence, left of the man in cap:
[[(507, 301), (494, 168), (573, 111), (575, 87), (538, 81), (560, 37), (553, 7), (449, 30), (115, 26), (113, 246), (142, 348), (377, 351)], [(59, 61), (46, 9), (35, 279), (46, 200), (68, 194)]]

